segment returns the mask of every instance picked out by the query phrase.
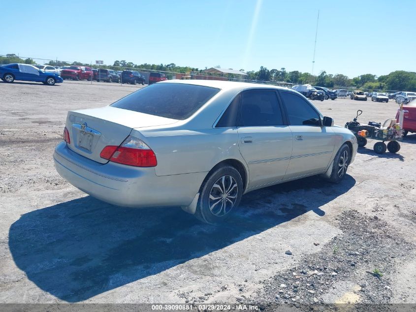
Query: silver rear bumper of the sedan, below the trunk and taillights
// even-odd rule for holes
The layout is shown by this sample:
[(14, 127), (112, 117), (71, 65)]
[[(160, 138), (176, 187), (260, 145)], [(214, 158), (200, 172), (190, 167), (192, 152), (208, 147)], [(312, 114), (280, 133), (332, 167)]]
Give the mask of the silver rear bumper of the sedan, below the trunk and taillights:
[(123, 207), (188, 206), (206, 175), (157, 176), (155, 168), (100, 164), (73, 152), (65, 142), (58, 144), (53, 157), (57, 172), (73, 186), (103, 202)]

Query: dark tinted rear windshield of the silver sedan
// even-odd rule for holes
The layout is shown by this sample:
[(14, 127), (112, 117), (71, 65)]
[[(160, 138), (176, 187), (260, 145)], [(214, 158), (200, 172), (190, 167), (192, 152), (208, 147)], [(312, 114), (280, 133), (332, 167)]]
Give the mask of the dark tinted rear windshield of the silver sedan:
[(184, 83), (157, 83), (140, 89), (111, 106), (184, 120), (219, 91), (217, 88)]

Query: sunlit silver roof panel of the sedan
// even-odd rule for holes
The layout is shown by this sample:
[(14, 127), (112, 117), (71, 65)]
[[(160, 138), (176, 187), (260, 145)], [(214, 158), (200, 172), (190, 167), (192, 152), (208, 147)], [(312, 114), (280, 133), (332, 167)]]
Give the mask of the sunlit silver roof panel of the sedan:
[[(222, 81), (222, 80), (164, 80), (158, 83), (184, 83), (184, 84), (193, 84), (198, 86), (218, 88), (222, 90), (231, 90), (231, 89), (251, 89), (251, 88), (267, 88), (267, 89), (281, 89), (281, 90), (290, 90), (286, 87), (279, 87), (270, 84), (260, 84), (260, 83), (249, 83), (249, 82), (236, 82), (236, 81)], [(292, 90), (290, 90), (292, 91)]]

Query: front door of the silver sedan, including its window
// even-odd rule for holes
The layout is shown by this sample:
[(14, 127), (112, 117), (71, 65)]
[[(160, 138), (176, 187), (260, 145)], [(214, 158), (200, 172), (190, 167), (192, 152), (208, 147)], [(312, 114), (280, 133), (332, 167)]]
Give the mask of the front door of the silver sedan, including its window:
[(320, 113), (307, 99), (290, 91), (279, 93), (293, 136), (285, 179), (325, 171), (334, 151), (334, 132), (321, 126)]

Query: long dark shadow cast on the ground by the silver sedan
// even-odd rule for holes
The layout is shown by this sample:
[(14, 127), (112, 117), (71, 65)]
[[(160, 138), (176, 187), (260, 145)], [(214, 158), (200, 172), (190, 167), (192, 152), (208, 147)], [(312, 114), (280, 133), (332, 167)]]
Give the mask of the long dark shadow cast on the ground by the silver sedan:
[[(310, 210), (322, 216), (320, 207), (354, 184), (350, 175), (339, 184), (313, 176), (253, 191), (243, 197), (227, 226), (202, 224), (179, 208), (120, 208), (87, 196), (22, 214), (9, 229), (9, 248), (16, 265), (37, 287), (79, 302)], [(314, 200), (297, 199), (299, 191)]]

